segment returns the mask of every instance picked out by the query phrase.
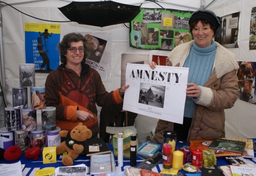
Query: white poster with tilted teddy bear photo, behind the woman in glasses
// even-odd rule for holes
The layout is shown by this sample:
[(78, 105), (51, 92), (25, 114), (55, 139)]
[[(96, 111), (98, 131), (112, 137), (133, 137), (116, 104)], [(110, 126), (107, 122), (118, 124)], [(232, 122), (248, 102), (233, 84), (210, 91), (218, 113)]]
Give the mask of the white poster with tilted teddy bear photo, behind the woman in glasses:
[(86, 38), (88, 55), (86, 63), (95, 69), (102, 79), (110, 78), (111, 70), (111, 35), (107, 32), (79, 32)]

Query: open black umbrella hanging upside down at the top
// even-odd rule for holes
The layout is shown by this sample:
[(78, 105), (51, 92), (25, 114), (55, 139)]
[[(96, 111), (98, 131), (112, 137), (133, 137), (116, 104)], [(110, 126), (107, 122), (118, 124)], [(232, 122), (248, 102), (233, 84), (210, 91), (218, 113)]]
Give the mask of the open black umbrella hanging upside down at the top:
[(72, 2), (58, 9), (71, 21), (99, 27), (130, 23), (140, 12), (140, 6), (113, 1)]

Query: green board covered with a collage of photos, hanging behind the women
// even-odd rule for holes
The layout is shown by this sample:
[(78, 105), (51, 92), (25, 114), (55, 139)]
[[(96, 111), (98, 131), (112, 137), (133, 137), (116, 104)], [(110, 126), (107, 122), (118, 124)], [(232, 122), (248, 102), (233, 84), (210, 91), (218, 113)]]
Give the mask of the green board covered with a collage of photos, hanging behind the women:
[(192, 40), (188, 20), (193, 12), (141, 8), (130, 24), (130, 46), (145, 50), (173, 50)]

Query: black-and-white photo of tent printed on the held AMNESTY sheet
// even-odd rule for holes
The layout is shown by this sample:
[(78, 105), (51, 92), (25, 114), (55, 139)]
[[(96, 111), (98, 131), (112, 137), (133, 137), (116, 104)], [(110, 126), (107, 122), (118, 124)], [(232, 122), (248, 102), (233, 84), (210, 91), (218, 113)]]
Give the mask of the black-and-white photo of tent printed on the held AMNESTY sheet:
[(161, 107), (164, 105), (165, 86), (140, 83), (139, 103)]

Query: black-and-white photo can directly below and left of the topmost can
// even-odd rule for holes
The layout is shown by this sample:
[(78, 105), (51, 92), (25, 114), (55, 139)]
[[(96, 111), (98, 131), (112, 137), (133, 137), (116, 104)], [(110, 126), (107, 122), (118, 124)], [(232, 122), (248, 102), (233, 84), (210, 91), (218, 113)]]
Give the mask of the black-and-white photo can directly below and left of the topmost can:
[(28, 108), (27, 87), (12, 87), (12, 106), (14, 109)]

